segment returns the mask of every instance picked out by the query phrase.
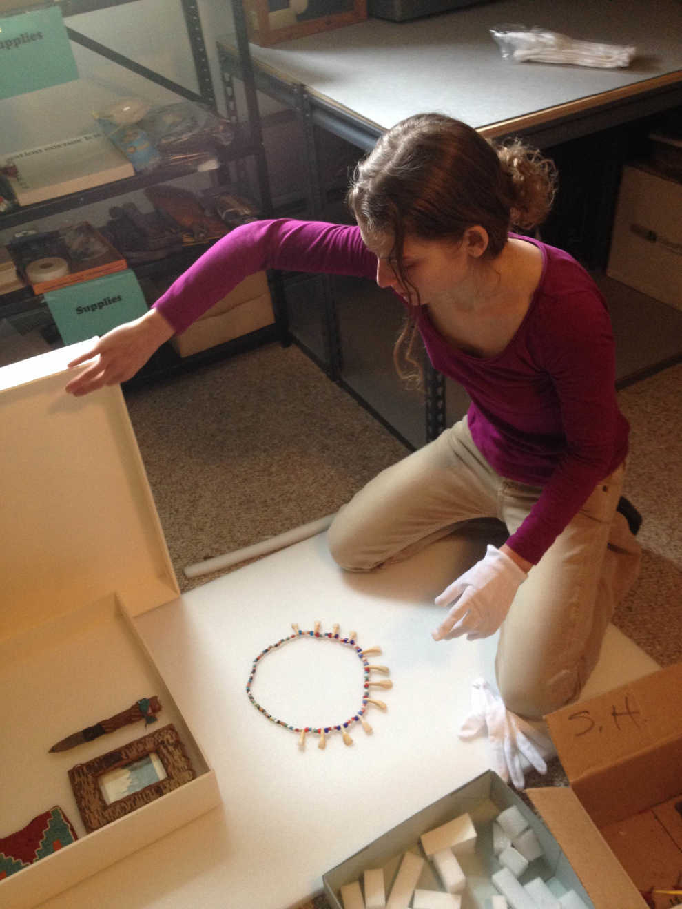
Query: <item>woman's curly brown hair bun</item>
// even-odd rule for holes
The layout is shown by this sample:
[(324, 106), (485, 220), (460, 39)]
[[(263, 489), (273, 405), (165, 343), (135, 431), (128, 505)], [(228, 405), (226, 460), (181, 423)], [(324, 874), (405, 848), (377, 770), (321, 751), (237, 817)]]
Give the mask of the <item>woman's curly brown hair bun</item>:
[(554, 161), (519, 139), (496, 145), (495, 149), (509, 179), (512, 225), (530, 230), (542, 224), (557, 195), (558, 175)]

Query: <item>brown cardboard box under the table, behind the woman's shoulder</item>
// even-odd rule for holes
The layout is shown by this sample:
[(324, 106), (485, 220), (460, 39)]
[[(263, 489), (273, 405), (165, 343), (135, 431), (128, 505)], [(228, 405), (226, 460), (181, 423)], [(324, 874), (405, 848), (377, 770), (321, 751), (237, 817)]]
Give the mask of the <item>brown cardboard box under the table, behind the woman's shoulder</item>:
[(626, 165), (618, 191), (607, 275), (682, 309), (682, 183)]

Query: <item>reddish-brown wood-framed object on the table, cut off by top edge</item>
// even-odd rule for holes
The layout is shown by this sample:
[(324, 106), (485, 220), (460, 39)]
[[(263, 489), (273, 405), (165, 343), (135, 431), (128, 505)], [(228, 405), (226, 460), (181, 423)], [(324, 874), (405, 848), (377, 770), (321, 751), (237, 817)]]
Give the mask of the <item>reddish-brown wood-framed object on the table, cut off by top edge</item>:
[(246, 0), (249, 39), (267, 47), (352, 25), (367, 17), (367, 0)]

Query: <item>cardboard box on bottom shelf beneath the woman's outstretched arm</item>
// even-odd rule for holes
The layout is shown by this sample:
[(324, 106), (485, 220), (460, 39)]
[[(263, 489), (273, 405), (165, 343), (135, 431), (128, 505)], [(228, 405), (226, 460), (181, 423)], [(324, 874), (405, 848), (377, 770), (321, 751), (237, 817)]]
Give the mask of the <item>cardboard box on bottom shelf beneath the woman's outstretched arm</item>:
[(236, 285), (171, 343), (179, 355), (189, 356), (265, 328), (274, 321), (266, 273), (257, 272)]

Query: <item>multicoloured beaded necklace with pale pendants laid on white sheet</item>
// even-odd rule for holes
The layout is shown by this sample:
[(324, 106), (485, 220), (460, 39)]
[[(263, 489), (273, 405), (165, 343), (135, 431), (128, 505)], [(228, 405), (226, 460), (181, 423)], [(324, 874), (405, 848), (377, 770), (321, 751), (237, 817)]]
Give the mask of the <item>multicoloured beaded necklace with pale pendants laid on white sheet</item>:
[[(307, 734), (319, 736), (319, 742), (317, 743), (318, 748), (325, 748), (326, 747), (326, 736), (330, 733), (335, 733), (335, 732), (342, 734), (344, 744), (353, 744), (353, 739), (351, 738), (351, 736), (347, 730), (348, 730), (348, 727), (354, 723), (360, 723), (362, 725), (363, 729), (365, 730), (366, 734), (370, 734), (372, 732), (372, 727), (370, 726), (370, 724), (367, 723), (367, 721), (365, 719), (367, 706), (371, 704), (374, 707), (378, 707), (379, 710), (386, 710), (386, 704), (384, 704), (383, 701), (377, 701), (375, 698), (369, 697), (369, 694), (368, 694), (369, 688), (373, 687), (373, 686), (377, 687), (377, 688), (392, 688), (393, 687), (393, 682), (391, 682), (390, 679), (380, 679), (379, 681), (370, 680), (370, 673), (372, 673), (372, 672), (381, 673), (384, 675), (388, 674), (389, 670), (388, 670), (387, 666), (370, 665), (369, 660), (367, 660), (367, 656), (371, 656), (373, 654), (380, 654), (381, 647), (368, 647), (366, 650), (363, 650), (363, 648), (358, 646), (358, 644), (356, 643), (356, 637), (357, 637), (356, 633), (351, 632), (350, 634), (348, 634), (347, 637), (341, 637), (341, 635), (339, 634), (339, 630), (338, 630), (339, 626), (337, 624), (335, 624), (333, 626), (333, 630), (330, 632), (321, 632), (319, 622), (315, 623), (315, 627), (314, 627), (313, 631), (301, 631), (298, 628), (298, 625), (296, 623), (292, 624), (291, 627), (294, 629), (294, 634), (289, 634), (288, 637), (283, 637), (281, 640), (277, 641), (276, 644), (270, 644), (269, 647), (266, 647), (265, 650), (262, 650), (260, 652), (260, 654), (258, 654), (256, 656), (256, 659), (254, 660), (254, 662), (251, 666), (251, 674), (249, 675), (248, 682), (246, 683), (246, 695), (247, 695), (249, 701), (251, 701), (251, 703), (256, 707), (256, 710), (260, 711), (260, 713), (263, 714), (266, 717), (266, 719), (269, 720), (271, 723), (275, 723), (278, 726), (284, 726), (285, 729), (290, 729), (292, 732), (297, 733), (298, 734), (298, 747), (301, 749), (306, 747), (306, 735)], [(258, 702), (256, 701), (256, 698), (254, 697), (254, 695), (251, 692), (251, 686), (252, 686), (252, 684), (254, 682), (254, 678), (256, 676), (256, 669), (257, 669), (260, 661), (263, 659), (263, 657), (266, 654), (269, 654), (271, 651), (276, 650), (277, 647), (281, 647), (282, 644), (287, 644), (290, 641), (296, 641), (303, 637), (308, 637), (308, 638), (312, 637), (312, 638), (317, 638), (319, 640), (326, 639), (329, 641), (335, 641), (337, 644), (344, 644), (346, 647), (351, 647), (356, 652), (357, 657), (360, 660), (360, 662), (363, 664), (362, 704), (360, 704), (360, 709), (357, 710), (355, 714), (350, 716), (344, 723), (340, 723), (340, 724), (336, 724), (336, 725), (328, 725), (328, 726), (294, 726), (294, 725), (285, 723), (284, 720), (278, 720), (276, 718), (276, 716), (269, 714), (266, 711), (265, 707), (263, 707), (261, 704), (258, 704)]]

